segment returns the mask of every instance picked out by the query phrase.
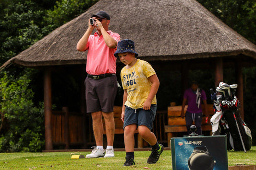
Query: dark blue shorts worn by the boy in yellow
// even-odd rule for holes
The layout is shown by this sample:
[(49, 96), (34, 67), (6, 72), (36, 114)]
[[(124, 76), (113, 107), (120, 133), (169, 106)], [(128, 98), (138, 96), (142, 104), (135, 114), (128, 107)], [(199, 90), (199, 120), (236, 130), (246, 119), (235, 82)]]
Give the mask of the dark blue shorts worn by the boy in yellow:
[(123, 130), (125, 126), (132, 124), (136, 124), (137, 126), (146, 125), (146, 127), (151, 130), (153, 128), (153, 121), (155, 119), (156, 112), (156, 104), (151, 104), (150, 110), (144, 110), (143, 108), (135, 110), (125, 106)]

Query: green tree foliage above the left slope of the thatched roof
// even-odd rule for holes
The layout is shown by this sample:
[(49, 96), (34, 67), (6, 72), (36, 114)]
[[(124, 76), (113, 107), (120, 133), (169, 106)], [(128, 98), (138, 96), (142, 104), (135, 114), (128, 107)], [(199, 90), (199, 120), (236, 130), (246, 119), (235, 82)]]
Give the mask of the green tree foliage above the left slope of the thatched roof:
[(0, 11), (0, 64), (72, 20), (95, 2), (97, 0), (0, 1), (0, 8), (4, 9)]

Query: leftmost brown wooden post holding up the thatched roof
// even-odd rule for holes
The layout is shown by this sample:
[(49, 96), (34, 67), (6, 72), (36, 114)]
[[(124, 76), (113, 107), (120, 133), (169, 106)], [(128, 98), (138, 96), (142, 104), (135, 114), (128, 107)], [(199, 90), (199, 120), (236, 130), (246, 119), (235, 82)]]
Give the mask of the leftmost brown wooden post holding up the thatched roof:
[(44, 72), (44, 109), (45, 109), (45, 149), (52, 150), (51, 134), (51, 71), (49, 68)]

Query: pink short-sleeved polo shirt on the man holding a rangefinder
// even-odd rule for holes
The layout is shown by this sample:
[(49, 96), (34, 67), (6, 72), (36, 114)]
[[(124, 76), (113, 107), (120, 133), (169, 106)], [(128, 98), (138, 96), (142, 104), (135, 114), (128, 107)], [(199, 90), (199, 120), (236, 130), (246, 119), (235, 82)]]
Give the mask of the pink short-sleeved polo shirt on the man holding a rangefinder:
[[(120, 35), (108, 31), (110, 36), (117, 42), (120, 41)], [(90, 35), (86, 44), (88, 49), (86, 72), (92, 75), (116, 73), (116, 57), (114, 53), (117, 50), (115, 48), (109, 48), (104, 42), (103, 36), (99, 36), (96, 32), (94, 35)]]

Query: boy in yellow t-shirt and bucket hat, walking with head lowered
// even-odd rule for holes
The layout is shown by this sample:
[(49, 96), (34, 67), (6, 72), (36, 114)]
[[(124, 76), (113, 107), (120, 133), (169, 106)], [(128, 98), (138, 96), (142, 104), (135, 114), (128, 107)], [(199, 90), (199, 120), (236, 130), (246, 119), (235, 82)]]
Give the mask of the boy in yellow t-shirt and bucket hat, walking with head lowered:
[(114, 55), (126, 65), (121, 71), (124, 89), (121, 119), (126, 151), (126, 161), (123, 166), (135, 165), (134, 133), (136, 129), (152, 148), (147, 163), (156, 163), (164, 150), (164, 147), (158, 144), (155, 134), (150, 131), (157, 111), (158, 77), (148, 62), (136, 58), (138, 54), (134, 50), (132, 40), (125, 39), (118, 42)]

